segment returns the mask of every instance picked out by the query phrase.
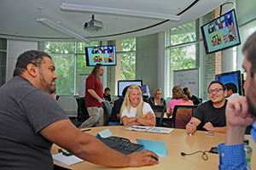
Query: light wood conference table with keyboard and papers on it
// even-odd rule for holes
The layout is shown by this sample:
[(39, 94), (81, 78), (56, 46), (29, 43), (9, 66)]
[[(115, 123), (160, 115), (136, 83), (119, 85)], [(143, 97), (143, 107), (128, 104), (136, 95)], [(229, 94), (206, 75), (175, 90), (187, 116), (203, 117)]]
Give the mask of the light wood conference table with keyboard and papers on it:
[[(86, 129), (86, 128), (84, 128)], [(223, 143), (225, 139), (224, 133), (215, 133), (213, 136), (207, 135), (206, 131), (196, 131), (192, 135), (188, 135), (185, 129), (176, 128), (172, 133), (148, 133), (148, 132), (137, 132), (125, 130), (124, 126), (106, 126), (106, 127), (90, 127), (90, 131), (84, 133), (89, 133), (96, 136), (97, 133), (108, 129), (112, 136), (119, 136), (123, 138), (130, 139), (131, 142), (137, 143), (136, 139), (148, 139), (155, 141), (164, 141), (166, 143), (166, 150), (168, 152), (167, 156), (160, 157), (160, 163), (154, 166), (146, 167), (136, 167), (140, 170), (150, 170), (150, 169), (188, 169), (188, 170), (212, 170), (218, 169), (218, 154), (208, 153), (208, 160), (204, 161), (202, 159), (202, 154), (197, 153), (192, 156), (181, 156), (181, 152), (187, 154), (193, 153), (198, 150), (210, 150), (213, 146), (217, 146), (219, 143)], [(83, 130), (83, 129), (81, 129)], [(256, 169), (256, 144), (253, 141), (251, 135), (245, 135), (245, 139), (249, 140), (249, 145), (253, 148), (252, 155), (252, 169)], [(58, 153), (60, 147), (53, 145), (51, 153)], [(66, 167), (59, 162), (55, 161), (56, 165), (61, 167)], [(99, 165), (92, 164), (88, 161), (83, 161), (67, 167), (68, 169), (117, 169), (116, 167), (103, 167)], [(135, 167), (124, 167), (124, 169), (134, 169)]]

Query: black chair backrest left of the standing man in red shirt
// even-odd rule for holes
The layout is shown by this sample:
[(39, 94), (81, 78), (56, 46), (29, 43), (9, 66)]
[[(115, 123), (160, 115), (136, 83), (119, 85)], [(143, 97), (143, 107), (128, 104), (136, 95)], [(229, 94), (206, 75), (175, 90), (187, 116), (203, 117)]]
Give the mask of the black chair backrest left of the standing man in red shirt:
[(76, 98), (78, 103), (78, 117), (77, 120), (79, 122), (84, 122), (87, 120), (90, 116), (89, 113), (85, 107), (85, 99), (83, 98)]

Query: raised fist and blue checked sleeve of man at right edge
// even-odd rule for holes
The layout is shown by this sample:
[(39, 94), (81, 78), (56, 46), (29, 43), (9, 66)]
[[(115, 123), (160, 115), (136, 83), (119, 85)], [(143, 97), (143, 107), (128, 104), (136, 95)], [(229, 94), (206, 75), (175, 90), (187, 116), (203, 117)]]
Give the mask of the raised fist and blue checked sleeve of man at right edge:
[(219, 169), (246, 169), (244, 133), (256, 118), (248, 112), (247, 99), (243, 96), (229, 99), (226, 105), (227, 130), (224, 144), (218, 144)]

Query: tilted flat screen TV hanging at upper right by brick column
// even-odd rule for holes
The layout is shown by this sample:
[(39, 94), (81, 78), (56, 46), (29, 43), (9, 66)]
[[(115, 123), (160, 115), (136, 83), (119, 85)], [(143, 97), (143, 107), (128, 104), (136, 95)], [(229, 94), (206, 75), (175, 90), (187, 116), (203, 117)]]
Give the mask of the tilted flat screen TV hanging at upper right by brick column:
[(235, 9), (201, 26), (201, 33), (207, 54), (241, 44)]

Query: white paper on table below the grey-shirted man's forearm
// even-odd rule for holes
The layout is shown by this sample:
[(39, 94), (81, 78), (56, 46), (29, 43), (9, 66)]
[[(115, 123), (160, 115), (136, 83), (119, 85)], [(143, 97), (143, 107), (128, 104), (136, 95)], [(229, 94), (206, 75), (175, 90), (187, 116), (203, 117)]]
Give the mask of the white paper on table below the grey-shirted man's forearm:
[(75, 163), (84, 161), (77, 156), (64, 156), (62, 153), (54, 154), (54, 155), (52, 155), (52, 158), (54, 161), (58, 161), (59, 163), (66, 165), (66, 166), (70, 166)]

